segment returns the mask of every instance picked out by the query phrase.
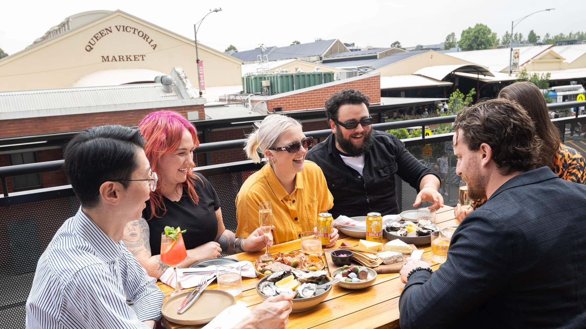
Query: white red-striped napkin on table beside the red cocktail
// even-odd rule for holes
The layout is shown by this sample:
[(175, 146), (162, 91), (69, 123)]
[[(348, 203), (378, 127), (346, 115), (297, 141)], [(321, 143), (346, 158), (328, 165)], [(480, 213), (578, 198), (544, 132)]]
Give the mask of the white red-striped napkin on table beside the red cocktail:
[[(236, 268), (240, 266), (241, 275), (244, 277), (256, 277), (256, 272), (254, 272), (253, 263), (249, 261), (241, 261), (237, 263), (230, 263), (229, 266)], [(203, 275), (193, 275), (193, 274), (183, 274), (183, 272), (213, 272), (210, 273), (214, 277), (216, 276), (216, 265), (209, 265), (205, 268), (186, 268), (186, 269), (177, 269), (177, 276), (179, 279), (179, 289), (186, 289), (190, 287), (195, 287), (199, 285), (199, 283), (203, 279)], [(173, 268), (168, 268), (163, 275), (159, 278), (161, 282), (165, 283), (168, 286), (175, 287), (175, 273), (173, 272)]]

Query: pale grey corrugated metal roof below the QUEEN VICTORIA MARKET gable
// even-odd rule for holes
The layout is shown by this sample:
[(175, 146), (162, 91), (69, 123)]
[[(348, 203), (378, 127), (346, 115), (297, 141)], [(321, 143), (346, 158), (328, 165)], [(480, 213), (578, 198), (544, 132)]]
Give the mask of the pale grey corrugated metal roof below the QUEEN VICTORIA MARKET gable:
[[(9, 112), (59, 108), (100, 107), (182, 99), (175, 90), (164, 92), (161, 84), (60, 88), (0, 92), (0, 115)], [(1, 118), (1, 116), (0, 116)]]

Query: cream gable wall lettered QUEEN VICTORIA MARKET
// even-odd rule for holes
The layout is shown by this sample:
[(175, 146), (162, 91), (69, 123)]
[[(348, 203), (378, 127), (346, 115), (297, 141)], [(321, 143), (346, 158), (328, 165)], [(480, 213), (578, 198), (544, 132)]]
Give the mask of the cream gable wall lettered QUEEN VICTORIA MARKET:
[[(169, 74), (175, 66), (197, 85), (192, 42), (121, 12), (11, 57), (0, 61), (0, 91), (66, 88), (88, 74), (117, 68)], [(199, 47), (199, 58), (206, 86), (241, 84), (237, 60), (206, 47)]]

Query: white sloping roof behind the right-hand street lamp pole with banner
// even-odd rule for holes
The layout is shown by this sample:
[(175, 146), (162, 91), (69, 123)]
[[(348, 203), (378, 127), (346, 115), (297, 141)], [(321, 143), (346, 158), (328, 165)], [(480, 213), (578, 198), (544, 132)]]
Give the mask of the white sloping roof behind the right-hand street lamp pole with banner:
[[(519, 49), (519, 64), (529, 61), (533, 57), (544, 52), (551, 44), (544, 44), (541, 46), (516, 47)], [(471, 50), (469, 52), (455, 52), (445, 53), (448, 56), (456, 57), (458, 59), (471, 61), (472, 63), (488, 67), (490, 71), (502, 72), (509, 70), (510, 49), (485, 49), (485, 50)]]

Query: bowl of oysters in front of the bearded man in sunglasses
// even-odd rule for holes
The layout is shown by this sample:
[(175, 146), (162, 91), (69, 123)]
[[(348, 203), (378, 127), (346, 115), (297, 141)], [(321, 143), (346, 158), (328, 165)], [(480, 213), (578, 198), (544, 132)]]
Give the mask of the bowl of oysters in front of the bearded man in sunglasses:
[(430, 245), (431, 232), (439, 231), (430, 220), (387, 222), (383, 229), (384, 236), (390, 241), (400, 239), (406, 244), (416, 246)]

